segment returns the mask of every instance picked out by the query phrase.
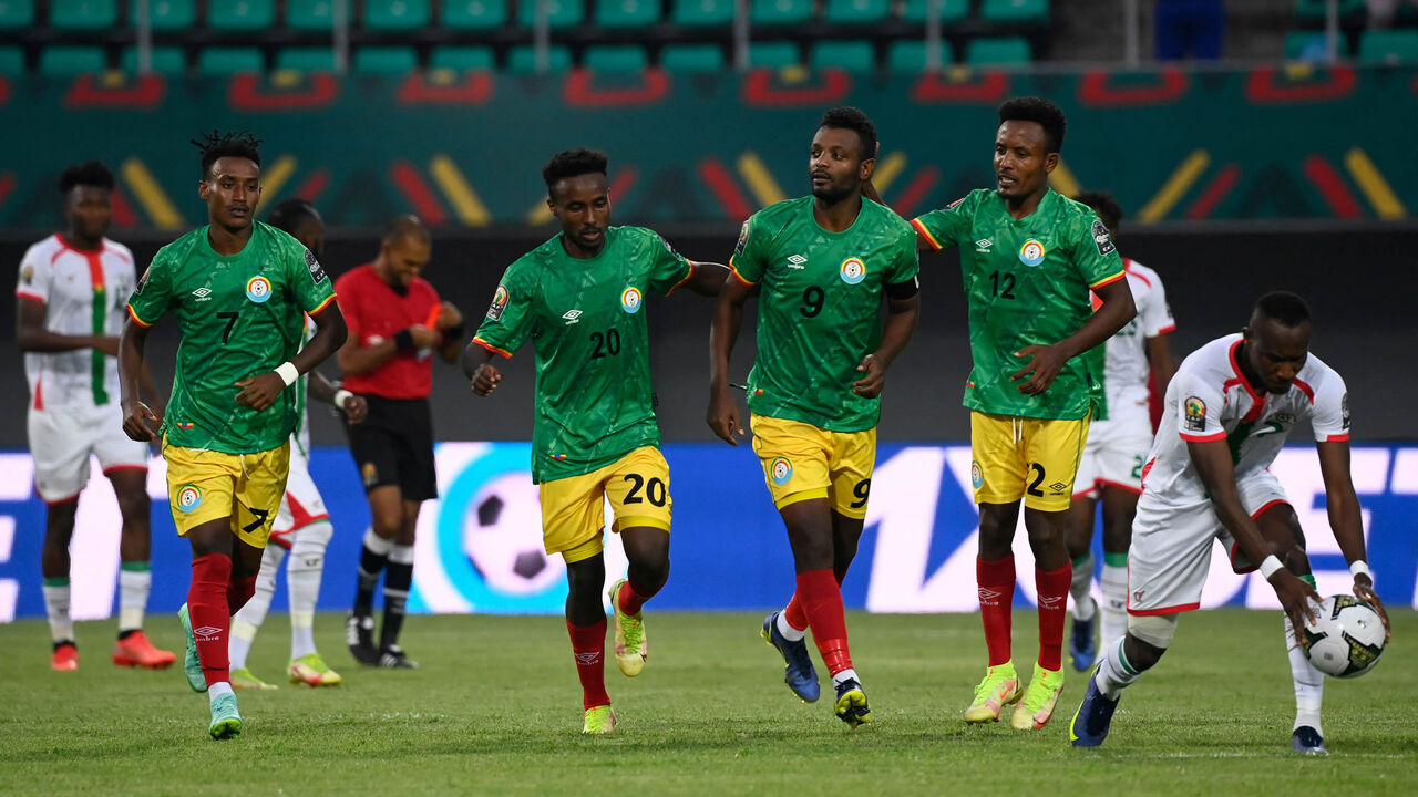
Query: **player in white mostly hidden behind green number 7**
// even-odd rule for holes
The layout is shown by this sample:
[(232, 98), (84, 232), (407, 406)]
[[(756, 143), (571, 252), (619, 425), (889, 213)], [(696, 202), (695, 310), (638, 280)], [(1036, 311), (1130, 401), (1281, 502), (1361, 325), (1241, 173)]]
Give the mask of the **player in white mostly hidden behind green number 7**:
[[(305, 248), (323, 257), (325, 221), (315, 207), (301, 199), (289, 199), (274, 208), (267, 221), (295, 237)], [(306, 318), (306, 340), (313, 332), (313, 322)], [(315, 650), (315, 603), (320, 594), (320, 576), (325, 570), (325, 549), (335, 535), (330, 516), (325, 511), (325, 499), (311, 478), (311, 425), (306, 396), (332, 404), (345, 411), (352, 424), (364, 420), (367, 407), (362, 396), (354, 396), (332, 384), (319, 372), (311, 372), (309, 390), (305, 376), (296, 384), (299, 425), (291, 434), (291, 474), (285, 481), (285, 496), (271, 526), (271, 542), (261, 554), (261, 572), (257, 574), (255, 591), (241, 611), (231, 618), (231, 685), (237, 689), (275, 689), (275, 685), (257, 678), (247, 667), (247, 655), (257, 630), (271, 610), (275, 597), (275, 579), (281, 560), (286, 560), (286, 589), (291, 593), (291, 664), (286, 676), (291, 684), (311, 686), (335, 686), (343, 679), (325, 664)]]

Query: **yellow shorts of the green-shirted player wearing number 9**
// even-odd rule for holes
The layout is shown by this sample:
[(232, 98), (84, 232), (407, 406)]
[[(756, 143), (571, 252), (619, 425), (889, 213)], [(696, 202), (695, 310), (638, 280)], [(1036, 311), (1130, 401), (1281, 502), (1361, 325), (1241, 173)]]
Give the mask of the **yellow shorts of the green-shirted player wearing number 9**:
[(752, 416), (753, 451), (763, 464), (763, 478), (780, 511), (798, 501), (825, 498), (832, 512), (866, 516), (876, 465), (876, 430), (827, 431), (825, 428)]

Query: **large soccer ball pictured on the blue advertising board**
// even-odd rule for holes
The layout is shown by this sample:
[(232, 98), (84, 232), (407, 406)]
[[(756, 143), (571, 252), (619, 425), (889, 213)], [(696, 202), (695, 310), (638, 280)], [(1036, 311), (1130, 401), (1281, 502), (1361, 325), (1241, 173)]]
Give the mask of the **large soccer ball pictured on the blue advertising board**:
[(493, 591), (530, 596), (562, 580), (562, 557), (542, 545), (542, 503), (526, 472), (482, 485), (462, 520), (462, 550)]

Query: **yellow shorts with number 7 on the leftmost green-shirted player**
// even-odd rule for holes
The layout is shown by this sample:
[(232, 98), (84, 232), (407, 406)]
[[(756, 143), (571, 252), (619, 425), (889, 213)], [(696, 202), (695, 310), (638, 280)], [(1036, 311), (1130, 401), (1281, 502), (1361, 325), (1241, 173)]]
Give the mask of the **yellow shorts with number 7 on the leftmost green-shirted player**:
[(167, 445), (167, 502), (177, 535), (218, 518), (251, 547), (265, 547), (291, 472), (291, 441), (257, 454), (223, 454)]

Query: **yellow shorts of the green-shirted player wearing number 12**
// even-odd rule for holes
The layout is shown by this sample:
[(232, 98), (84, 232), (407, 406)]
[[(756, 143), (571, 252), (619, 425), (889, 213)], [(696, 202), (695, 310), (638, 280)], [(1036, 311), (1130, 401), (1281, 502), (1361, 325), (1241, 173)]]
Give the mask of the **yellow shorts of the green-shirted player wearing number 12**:
[(970, 413), (970, 481), (976, 503), (1014, 503), (1042, 512), (1068, 509), (1088, 440), (1076, 420)]

